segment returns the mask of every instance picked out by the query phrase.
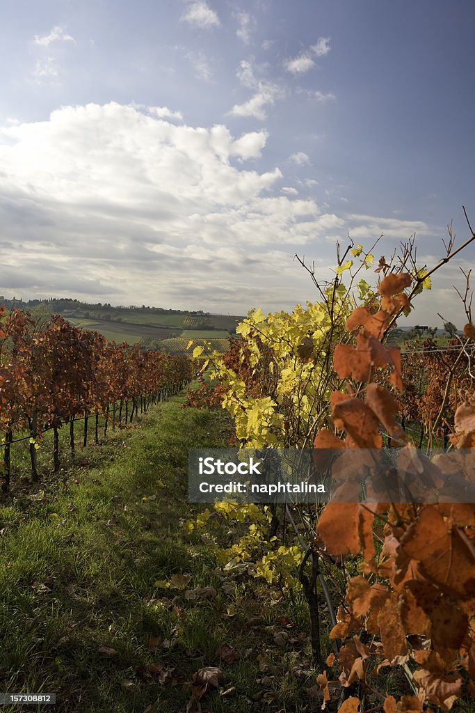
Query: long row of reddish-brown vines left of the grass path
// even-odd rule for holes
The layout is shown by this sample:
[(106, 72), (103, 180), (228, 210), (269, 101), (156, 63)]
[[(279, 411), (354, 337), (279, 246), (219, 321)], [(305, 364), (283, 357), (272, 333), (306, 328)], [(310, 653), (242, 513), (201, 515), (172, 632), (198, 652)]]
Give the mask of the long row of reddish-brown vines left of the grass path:
[[(31, 479), (38, 478), (36, 451), (43, 432), (53, 430), (54, 471), (60, 467), (58, 430), (69, 424), (71, 453), (75, 452), (75, 422), (88, 419), (108, 424), (132, 423), (138, 409), (176, 394), (192, 378), (186, 356), (174, 356), (108, 342), (98, 332), (82, 331), (56, 315), (36, 328), (19, 309), (0, 307), (0, 431), (4, 463), (1, 489), (9, 491), (12, 443), (28, 439)], [(27, 435), (24, 435), (26, 432)]]

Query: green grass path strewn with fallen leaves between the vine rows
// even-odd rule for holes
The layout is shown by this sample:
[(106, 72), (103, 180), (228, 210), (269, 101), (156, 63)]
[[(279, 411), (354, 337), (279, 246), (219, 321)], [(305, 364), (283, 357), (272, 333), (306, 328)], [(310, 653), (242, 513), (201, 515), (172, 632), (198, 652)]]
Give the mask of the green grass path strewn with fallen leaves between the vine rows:
[[(288, 676), (300, 654), (289, 664), (274, 646), (285, 612), (268, 588), (224, 581), (207, 543), (182, 528), (202, 509), (187, 502), (187, 450), (226, 445), (229, 424), (178, 406), (116, 433), (94, 468), (26, 512), (0, 507), (0, 691), (56, 692), (57, 713), (184, 713), (194, 672), (216, 666), (220, 692), (203, 713), (316, 709), (301, 697), (308, 676)], [(169, 580), (176, 589), (155, 585)]]

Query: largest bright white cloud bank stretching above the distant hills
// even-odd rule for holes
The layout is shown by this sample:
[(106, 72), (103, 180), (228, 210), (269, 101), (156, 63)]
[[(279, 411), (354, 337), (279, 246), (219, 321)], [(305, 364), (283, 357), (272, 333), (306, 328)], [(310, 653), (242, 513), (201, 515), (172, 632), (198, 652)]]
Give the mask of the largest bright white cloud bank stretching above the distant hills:
[(296, 250), (318, 255), (324, 279), (331, 243), (348, 231), (399, 240), (427, 230), (421, 221), (322, 212), (278, 168), (240, 163), (265, 154), (265, 131), (172, 123), (158, 115), (177, 111), (155, 109), (90, 103), (0, 127), (4, 294), (229, 314), (291, 309), (317, 299)]

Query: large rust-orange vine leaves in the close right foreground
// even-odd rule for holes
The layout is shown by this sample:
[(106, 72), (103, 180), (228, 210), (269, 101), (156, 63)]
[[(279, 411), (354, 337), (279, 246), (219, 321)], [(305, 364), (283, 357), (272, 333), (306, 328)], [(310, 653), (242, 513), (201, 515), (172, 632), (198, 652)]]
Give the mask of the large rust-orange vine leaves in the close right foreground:
[[(402, 447), (401, 462), (415, 457), (395, 421), (395, 396), (373, 380), (377, 367), (389, 367), (390, 384), (403, 391), (400, 349), (385, 347), (381, 339), (392, 314), (404, 306), (402, 290), (410, 282), (410, 275), (388, 275), (379, 287), (380, 309), (373, 314), (360, 307), (348, 319), (355, 346), (336, 347), (334, 368), (351, 381), (331, 396), (333, 424), (343, 431), (343, 443), (324, 429), (315, 448), (381, 448), (382, 426)], [(472, 329), (466, 327), (467, 337)], [(459, 449), (474, 447), (475, 396), (456, 409), (451, 439)], [(470, 479), (474, 469), (464, 468), (465, 458), (465, 451), (449, 452), (425, 467), (436, 486), (457, 469)], [(385, 713), (422, 711), (424, 705), (451, 709), (460, 697), (475, 694), (475, 506), (384, 503), (383, 493), (370, 493), (375, 502), (338, 503), (345, 491), (353, 492), (349, 472), (340, 478), (337, 502), (320, 515), (315, 543), (330, 555), (360, 558), (361, 575), (348, 581), (330, 638), (342, 644), (333, 664), (340, 668), (340, 681), (344, 687), (359, 682), (363, 697), (349, 698), (340, 710), (364, 710), (365, 692), (384, 667), (402, 667), (414, 693), (398, 702), (387, 696)], [(379, 543), (376, 518), (384, 523)], [(324, 693), (325, 679), (326, 674), (320, 681)]]

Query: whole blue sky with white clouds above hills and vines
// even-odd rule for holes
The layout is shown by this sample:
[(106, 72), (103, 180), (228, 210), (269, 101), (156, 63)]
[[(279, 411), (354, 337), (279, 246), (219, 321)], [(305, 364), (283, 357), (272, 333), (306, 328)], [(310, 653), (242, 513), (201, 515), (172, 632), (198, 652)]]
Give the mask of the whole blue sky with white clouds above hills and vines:
[[(0, 0), (0, 294), (246, 314), (475, 224), (473, 0)], [(463, 324), (470, 246), (407, 324)], [(365, 279), (376, 282), (369, 270)], [(474, 282), (475, 284), (475, 282)]]

